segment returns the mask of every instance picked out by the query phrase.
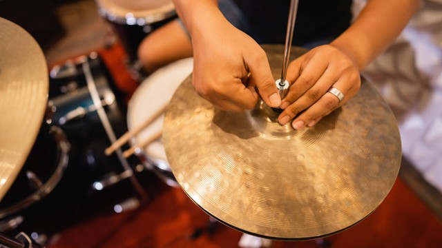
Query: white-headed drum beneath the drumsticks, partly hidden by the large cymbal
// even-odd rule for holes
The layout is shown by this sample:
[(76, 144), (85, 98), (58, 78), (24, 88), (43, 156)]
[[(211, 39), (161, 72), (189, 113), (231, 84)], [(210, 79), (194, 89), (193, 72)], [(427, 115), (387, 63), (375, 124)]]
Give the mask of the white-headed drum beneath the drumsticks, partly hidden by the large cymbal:
[[(148, 76), (135, 90), (128, 103), (128, 129), (133, 130), (155, 115), (162, 107), (169, 104), (177, 87), (191, 74), (193, 58), (175, 61)], [(146, 127), (134, 139), (133, 143), (147, 140), (161, 132), (164, 115), (161, 115), (151, 125)], [(166, 159), (166, 152), (161, 138), (147, 145), (140, 154), (141, 160), (148, 169), (153, 170), (167, 185), (178, 187)]]

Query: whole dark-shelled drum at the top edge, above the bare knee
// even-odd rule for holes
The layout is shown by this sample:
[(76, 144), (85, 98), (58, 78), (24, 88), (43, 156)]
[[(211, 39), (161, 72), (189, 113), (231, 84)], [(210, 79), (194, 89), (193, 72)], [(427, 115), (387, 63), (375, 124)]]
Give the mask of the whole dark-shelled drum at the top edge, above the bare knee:
[(137, 49), (147, 34), (175, 19), (171, 0), (95, 0), (99, 14), (112, 24), (132, 72), (141, 70)]

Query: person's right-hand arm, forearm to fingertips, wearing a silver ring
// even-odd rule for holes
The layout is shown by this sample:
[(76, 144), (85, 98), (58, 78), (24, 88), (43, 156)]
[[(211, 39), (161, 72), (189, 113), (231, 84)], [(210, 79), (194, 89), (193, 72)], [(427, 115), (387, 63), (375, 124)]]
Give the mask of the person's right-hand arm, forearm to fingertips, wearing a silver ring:
[[(398, 37), (420, 0), (369, 0), (352, 25), (329, 45), (314, 48), (292, 61), (287, 72), (289, 93), (282, 99), (281, 124), (294, 118), (299, 130), (313, 126), (358, 92), (360, 71)], [(343, 101), (327, 94), (336, 87)]]

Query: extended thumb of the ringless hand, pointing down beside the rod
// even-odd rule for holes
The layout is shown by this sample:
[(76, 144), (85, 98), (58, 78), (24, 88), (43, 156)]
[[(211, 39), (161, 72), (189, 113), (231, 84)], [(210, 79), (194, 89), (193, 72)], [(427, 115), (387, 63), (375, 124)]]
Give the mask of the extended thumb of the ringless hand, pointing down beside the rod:
[(281, 98), (278, 94), (278, 89), (275, 85), (275, 79), (271, 74), (269, 61), (264, 50), (251, 57), (245, 58), (244, 61), (250, 71), (250, 85), (258, 87), (259, 94), (262, 101), (267, 103), (270, 107), (279, 107), (281, 105)]

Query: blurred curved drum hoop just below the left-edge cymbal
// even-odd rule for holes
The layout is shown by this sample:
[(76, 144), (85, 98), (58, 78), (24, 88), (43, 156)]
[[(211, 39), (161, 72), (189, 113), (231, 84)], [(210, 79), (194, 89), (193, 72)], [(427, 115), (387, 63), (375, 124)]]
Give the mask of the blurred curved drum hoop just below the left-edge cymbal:
[(48, 178), (48, 180), (46, 180), (46, 183), (44, 183), (44, 185), (42, 185), (34, 194), (30, 194), (26, 198), (23, 198), (22, 200), (9, 207), (0, 209), (0, 218), (10, 216), (11, 214), (25, 209), (38, 200), (41, 200), (42, 198), (48, 196), (48, 194), (52, 192), (52, 190), (55, 188), (55, 186), (58, 185), (59, 181), (61, 180), (61, 177), (64, 174), (64, 170), (66, 169), (66, 167), (68, 167), (68, 154), (70, 151), (70, 143), (68, 142), (68, 139), (66, 138), (64, 132), (59, 127), (50, 127), (49, 134), (54, 136), (57, 142), (57, 157), (59, 158), (59, 161), (57, 163), (57, 167), (55, 168), (55, 172), (50, 176), (50, 178)]

